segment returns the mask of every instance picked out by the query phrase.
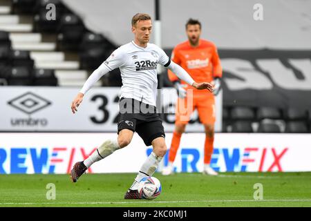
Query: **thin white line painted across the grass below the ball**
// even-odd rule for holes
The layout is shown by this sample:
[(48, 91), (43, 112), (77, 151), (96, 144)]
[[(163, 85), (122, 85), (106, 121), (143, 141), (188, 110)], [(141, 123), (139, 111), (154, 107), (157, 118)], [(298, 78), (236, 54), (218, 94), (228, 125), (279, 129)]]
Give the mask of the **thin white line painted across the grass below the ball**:
[(137, 204), (137, 203), (182, 203), (182, 202), (311, 202), (311, 199), (288, 200), (181, 200), (181, 201), (121, 201), (121, 202), (1, 202), (0, 205), (36, 205), (36, 204)]

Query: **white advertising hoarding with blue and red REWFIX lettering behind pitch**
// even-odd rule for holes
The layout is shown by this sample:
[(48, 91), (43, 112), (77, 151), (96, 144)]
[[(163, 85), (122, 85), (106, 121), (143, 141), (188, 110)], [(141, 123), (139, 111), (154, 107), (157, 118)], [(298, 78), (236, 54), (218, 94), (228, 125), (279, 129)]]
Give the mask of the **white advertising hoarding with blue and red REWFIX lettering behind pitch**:
[[(0, 173), (69, 173), (115, 133), (0, 133)], [(166, 142), (170, 146), (171, 133)], [(176, 172), (201, 172), (204, 133), (182, 135)], [(216, 133), (211, 166), (220, 172), (311, 171), (311, 135)], [(151, 153), (135, 133), (129, 146), (91, 166), (88, 173), (137, 173)], [(168, 161), (165, 155), (162, 166)]]

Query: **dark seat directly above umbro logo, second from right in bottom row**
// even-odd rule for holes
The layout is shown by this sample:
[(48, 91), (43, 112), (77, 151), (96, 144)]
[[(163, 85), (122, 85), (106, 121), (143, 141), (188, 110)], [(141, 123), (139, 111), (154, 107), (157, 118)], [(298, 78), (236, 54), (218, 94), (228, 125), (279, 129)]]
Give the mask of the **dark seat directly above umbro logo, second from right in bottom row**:
[(32, 77), (26, 67), (10, 68), (8, 70), (8, 85), (31, 86)]

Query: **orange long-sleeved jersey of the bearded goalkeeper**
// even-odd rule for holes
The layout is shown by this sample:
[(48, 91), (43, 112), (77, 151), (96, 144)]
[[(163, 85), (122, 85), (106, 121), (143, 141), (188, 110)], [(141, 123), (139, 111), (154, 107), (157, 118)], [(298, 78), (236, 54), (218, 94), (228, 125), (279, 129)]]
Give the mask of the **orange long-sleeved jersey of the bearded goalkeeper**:
[[(173, 49), (171, 60), (182, 66), (198, 83), (203, 81), (210, 83), (214, 77), (223, 75), (217, 48), (211, 41), (200, 39), (199, 45), (195, 48), (189, 41), (182, 42)], [(178, 80), (171, 70), (168, 70), (168, 74), (171, 81)], [(182, 81), (182, 84), (187, 83)]]

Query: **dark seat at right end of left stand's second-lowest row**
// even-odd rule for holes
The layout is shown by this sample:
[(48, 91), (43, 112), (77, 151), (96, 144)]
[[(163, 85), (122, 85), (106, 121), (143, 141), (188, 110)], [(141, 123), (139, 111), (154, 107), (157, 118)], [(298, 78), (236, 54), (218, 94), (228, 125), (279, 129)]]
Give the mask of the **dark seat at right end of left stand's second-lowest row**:
[(27, 50), (13, 50), (10, 52), (10, 65), (23, 66), (32, 70), (34, 61), (30, 58), (30, 52)]

